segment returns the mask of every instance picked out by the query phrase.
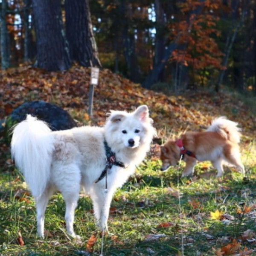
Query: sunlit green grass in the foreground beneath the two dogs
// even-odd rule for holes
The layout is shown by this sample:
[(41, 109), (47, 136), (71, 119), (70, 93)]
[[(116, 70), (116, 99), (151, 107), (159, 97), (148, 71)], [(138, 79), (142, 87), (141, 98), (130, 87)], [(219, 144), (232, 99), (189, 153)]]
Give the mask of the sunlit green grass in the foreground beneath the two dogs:
[[(104, 239), (105, 256), (174, 256), (182, 255), (182, 248), (186, 256), (213, 256), (232, 239), (241, 241), (242, 250), (255, 247), (242, 236), (248, 229), (256, 230), (256, 209), (243, 212), (245, 206), (256, 204), (256, 167), (246, 167), (246, 179), (229, 168), (218, 179), (180, 179), (183, 166), (161, 172), (160, 161), (146, 160), (116, 192), (108, 221), (110, 233)], [(212, 171), (211, 167), (202, 171), (202, 166), (199, 163), (196, 168), (198, 176)], [(18, 189), (21, 194), (17, 197)], [(75, 230), (81, 241), (67, 236), (60, 194), (54, 195), (47, 207), (45, 229), (49, 236), (42, 240), (36, 236), (34, 201), (25, 193), (23, 178), (14, 166), (2, 172), (0, 191), (0, 255), (99, 255), (99, 232), (93, 252), (87, 254), (86, 249), (87, 240), (97, 230), (90, 198), (81, 196), (76, 209)], [(217, 209), (233, 219), (210, 218), (210, 212)], [(169, 227), (159, 227), (164, 223)], [(19, 231), (23, 246), (17, 243)], [(147, 240), (148, 235), (160, 237)]]

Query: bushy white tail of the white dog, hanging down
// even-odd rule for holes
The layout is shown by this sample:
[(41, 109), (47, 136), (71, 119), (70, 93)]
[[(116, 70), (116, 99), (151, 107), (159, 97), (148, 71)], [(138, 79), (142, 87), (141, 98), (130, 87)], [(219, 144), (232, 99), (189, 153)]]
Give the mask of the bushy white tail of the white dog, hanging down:
[(13, 130), (11, 152), (32, 195), (39, 197), (49, 180), (54, 137), (48, 125), (27, 115)]

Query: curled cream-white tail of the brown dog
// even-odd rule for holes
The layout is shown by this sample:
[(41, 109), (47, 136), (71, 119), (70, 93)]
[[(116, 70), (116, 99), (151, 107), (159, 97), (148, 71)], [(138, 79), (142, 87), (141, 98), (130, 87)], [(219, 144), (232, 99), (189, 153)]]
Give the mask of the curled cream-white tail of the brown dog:
[(237, 125), (237, 122), (230, 121), (225, 116), (221, 116), (212, 121), (212, 124), (207, 129), (207, 131), (218, 132), (227, 140), (230, 140), (234, 143), (239, 143), (241, 129), (237, 127)]

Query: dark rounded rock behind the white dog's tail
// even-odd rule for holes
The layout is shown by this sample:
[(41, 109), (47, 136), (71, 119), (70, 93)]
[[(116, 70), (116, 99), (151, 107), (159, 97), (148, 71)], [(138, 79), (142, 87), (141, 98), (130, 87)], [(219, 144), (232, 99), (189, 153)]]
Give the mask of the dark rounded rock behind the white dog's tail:
[(52, 103), (44, 101), (25, 102), (12, 111), (6, 119), (6, 142), (10, 141), (10, 129), (12, 126), (26, 119), (27, 114), (36, 116), (38, 119), (47, 122), (52, 131), (67, 130), (77, 126), (77, 123), (67, 111)]

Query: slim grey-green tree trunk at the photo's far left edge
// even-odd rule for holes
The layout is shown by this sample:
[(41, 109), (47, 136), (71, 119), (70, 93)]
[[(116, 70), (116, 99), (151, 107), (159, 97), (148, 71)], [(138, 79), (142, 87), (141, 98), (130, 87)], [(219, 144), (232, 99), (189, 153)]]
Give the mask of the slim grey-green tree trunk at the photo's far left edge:
[(2, 0), (1, 20), (1, 69), (6, 70), (10, 66), (10, 57), (8, 49), (8, 30), (6, 25), (7, 2)]

